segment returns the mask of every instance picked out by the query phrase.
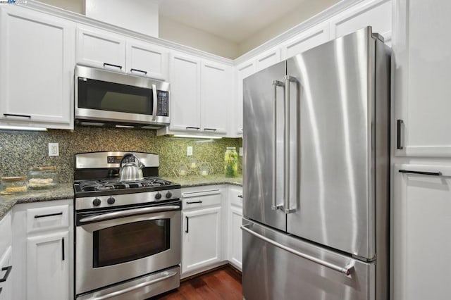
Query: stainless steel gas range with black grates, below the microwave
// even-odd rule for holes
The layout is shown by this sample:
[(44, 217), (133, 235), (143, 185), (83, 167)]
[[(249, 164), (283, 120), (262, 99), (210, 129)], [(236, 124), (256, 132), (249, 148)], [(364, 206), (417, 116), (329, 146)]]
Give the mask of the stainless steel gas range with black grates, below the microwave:
[[(147, 299), (180, 285), (180, 185), (156, 154), (75, 154), (75, 298)], [(119, 180), (119, 165), (144, 178)]]

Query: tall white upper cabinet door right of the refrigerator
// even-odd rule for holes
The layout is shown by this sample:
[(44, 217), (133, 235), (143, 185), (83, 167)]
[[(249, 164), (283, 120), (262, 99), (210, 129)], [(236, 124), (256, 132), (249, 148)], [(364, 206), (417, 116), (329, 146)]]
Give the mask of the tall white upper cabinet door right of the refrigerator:
[(395, 1), (396, 156), (451, 157), (451, 1), (439, 2)]

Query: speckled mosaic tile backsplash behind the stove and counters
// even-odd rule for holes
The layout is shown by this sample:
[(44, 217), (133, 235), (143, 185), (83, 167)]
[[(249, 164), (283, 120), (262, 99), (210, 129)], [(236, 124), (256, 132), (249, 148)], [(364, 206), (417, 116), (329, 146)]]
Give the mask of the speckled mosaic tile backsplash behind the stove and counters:
[[(59, 144), (59, 156), (49, 156), (49, 143)], [(193, 155), (187, 156), (187, 146)], [(242, 139), (187, 139), (158, 137), (155, 130), (127, 130), (75, 126), (75, 130), (47, 132), (0, 131), (0, 175), (26, 175), (29, 168), (56, 165), (60, 182), (73, 181), (74, 154), (90, 151), (137, 151), (159, 154), (160, 176), (173, 176), (173, 170), (190, 158), (206, 162), (214, 174), (223, 173), (226, 147), (242, 146)], [(238, 173), (242, 173), (242, 157)]]

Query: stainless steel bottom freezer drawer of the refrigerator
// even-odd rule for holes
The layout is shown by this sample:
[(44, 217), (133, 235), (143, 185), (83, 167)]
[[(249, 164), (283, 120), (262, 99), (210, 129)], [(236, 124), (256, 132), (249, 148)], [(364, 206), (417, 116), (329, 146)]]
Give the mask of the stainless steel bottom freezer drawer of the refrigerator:
[(257, 223), (244, 223), (245, 299), (375, 299), (374, 263), (355, 260)]

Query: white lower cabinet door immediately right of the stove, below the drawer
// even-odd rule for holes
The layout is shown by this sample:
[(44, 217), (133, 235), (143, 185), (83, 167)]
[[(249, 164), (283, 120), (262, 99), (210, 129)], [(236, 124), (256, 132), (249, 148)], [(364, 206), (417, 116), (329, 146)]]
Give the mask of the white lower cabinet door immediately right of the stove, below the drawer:
[(221, 261), (221, 207), (182, 215), (182, 274)]

